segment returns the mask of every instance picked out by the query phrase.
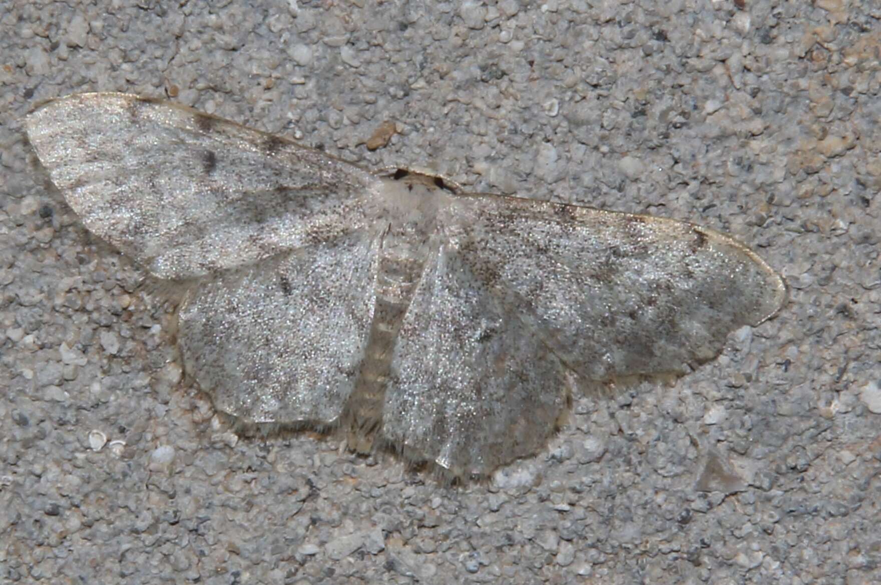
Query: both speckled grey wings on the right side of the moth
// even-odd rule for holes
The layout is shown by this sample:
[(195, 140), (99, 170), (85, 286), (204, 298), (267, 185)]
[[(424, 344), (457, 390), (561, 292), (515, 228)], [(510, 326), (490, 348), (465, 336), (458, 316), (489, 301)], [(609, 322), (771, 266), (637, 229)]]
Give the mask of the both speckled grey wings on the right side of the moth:
[(459, 196), (446, 221), (383, 428), (466, 475), (535, 452), (578, 381), (684, 374), (785, 300), (757, 255), (686, 222), (489, 194)]

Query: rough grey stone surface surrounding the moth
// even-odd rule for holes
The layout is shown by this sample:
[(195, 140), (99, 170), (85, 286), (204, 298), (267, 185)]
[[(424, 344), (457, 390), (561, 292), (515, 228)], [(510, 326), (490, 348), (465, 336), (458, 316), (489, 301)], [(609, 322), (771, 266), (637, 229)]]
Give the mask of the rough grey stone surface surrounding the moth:
[[(0, 580), (881, 581), (877, 3), (137, 4), (0, 15)], [(29, 162), (21, 116), (96, 89), (689, 219), (759, 248), (791, 300), (674, 385), (576, 400), (486, 485), (234, 441), (167, 366), (167, 307)]]

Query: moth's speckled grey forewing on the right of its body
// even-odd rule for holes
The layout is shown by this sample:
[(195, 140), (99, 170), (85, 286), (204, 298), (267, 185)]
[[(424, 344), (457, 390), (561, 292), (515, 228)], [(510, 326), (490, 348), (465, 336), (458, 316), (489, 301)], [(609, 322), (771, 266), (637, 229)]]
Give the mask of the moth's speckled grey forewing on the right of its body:
[(459, 202), (463, 263), (584, 379), (683, 374), (785, 299), (758, 255), (706, 227), (517, 197)]

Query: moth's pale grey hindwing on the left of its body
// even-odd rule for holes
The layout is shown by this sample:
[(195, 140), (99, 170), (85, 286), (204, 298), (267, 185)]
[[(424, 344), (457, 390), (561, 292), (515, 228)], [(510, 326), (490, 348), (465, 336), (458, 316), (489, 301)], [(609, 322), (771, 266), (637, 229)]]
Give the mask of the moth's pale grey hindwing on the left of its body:
[(248, 423), (325, 426), (340, 417), (374, 313), (371, 244), (350, 234), (189, 292), (179, 311), (184, 367), (219, 411)]

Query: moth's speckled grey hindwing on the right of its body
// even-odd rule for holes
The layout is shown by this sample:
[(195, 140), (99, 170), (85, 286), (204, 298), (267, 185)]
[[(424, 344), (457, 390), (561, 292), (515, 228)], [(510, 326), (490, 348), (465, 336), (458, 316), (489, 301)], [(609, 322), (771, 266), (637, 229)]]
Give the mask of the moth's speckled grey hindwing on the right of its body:
[(456, 248), (441, 246), (403, 319), (382, 429), (414, 457), (480, 476), (544, 445), (574, 376)]

